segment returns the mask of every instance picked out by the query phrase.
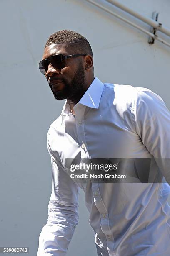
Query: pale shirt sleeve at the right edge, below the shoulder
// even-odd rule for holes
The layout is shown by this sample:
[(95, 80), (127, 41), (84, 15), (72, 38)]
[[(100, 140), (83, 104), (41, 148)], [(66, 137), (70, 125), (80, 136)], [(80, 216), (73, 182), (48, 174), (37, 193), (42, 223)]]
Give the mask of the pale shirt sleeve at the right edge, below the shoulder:
[(135, 100), (136, 131), (170, 184), (170, 112), (159, 95), (144, 89)]

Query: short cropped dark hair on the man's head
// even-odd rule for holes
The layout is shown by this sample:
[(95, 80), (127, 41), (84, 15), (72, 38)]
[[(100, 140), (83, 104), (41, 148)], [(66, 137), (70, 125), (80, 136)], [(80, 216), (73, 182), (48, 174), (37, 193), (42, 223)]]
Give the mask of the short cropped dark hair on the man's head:
[(73, 46), (72, 50), (74, 52), (72, 54), (85, 53), (91, 55), (93, 58), (92, 49), (89, 42), (84, 36), (75, 31), (65, 29), (55, 32), (54, 34), (50, 35), (45, 47), (51, 44), (67, 44), (68, 47)]

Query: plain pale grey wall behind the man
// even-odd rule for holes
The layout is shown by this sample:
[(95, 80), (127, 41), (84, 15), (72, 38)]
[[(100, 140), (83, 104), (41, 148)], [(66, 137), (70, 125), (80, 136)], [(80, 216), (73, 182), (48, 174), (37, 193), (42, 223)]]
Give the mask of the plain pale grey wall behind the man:
[[(148, 17), (156, 10), (159, 21), (170, 24), (169, 0), (120, 2)], [(28, 246), (35, 256), (51, 193), (46, 135), (64, 104), (54, 99), (37, 68), (47, 38), (62, 29), (81, 33), (93, 49), (95, 76), (102, 82), (148, 87), (168, 108), (170, 48), (159, 42), (150, 46), (148, 36), (85, 0), (1, 0), (0, 19), (0, 246)], [(87, 223), (80, 194), (80, 224), (68, 256), (96, 255)]]

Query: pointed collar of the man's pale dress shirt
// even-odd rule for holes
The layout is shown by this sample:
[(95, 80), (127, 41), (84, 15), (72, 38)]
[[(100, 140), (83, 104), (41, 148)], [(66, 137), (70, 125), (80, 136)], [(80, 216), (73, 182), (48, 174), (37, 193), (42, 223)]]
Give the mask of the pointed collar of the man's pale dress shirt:
[[(85, 92), (85, 94), (82, 96), (82, 98), (75, 106), (77, 107), (77, 105), (82, 104), (89, 108), (99, 108), (103, 88), (104, 84), (97, 77), (95, 77), (95, 79), (92, 81), (87, 91)], [(70, 106), (66, 100), (61, 112), (62, 118), (63, 116), (69, 113)]]

